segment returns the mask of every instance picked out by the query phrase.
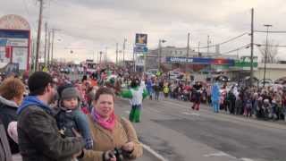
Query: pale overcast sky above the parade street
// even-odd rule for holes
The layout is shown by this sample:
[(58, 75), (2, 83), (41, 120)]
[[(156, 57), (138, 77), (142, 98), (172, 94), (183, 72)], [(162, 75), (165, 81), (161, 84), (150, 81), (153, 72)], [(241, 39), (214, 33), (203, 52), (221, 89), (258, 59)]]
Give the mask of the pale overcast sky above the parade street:
[[(0, 16), (19, 14), (29, 21), (33, 37), (38, 27), (36, 0), (1, 0)], [(115, 60), (115, 45), (122, 49), (127, 38), (127, 56), (136, 33), (148, 34), (148, 47), (186, 47), (187, 34), (191, 47), (206, 46), (207, 35), (212, 44), (250, 32), (250, 9), (255, 9), (255, 30), (265, 30), (263, 24), (272, 24), (270, 30), (286, 30), (286, 4), (283, 0), (44, 0), (44, 22), (55, 32), (55, 57), (68, 60), (97, 59), (99, 51), (107, 47), (108, 57)], [(42, 35), (45, 35), (44, 25)], [(286, 45), (286, 34), (270, 34), (274, 44)], [(42, 37), (43, 39), (44, 37)], [(221, 47), (225, 53), (250, 42), (248, 35)], [(265, 42), (265, 33), (255, 34), (255, 43)], [(74, 53), (71, 55), (70, 50)], [(211, 48), (213, 51), (214, 48)], [(259, 56), (256, 49), (255, 55)], [(283, 58), (285, 49), (278, 48)], [(243, 49), (232, 55), (250, 55)], [(285, 58), (284, 58), (285, 59)]]

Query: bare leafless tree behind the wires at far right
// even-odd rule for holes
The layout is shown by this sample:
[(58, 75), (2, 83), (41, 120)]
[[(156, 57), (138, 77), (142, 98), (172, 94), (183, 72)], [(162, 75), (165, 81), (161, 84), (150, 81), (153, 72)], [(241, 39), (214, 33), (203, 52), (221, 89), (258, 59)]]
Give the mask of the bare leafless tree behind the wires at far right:
[(273, 64), (277, 62), (276, 56), (278, 54), (278, 46), (279, 44), (275, 44), (273, 40), (268, 41), (268, 46), (266, 50), (266, 41), (263, 43), (263, 45), (258, 46), (258, 49), (260, 51), (260, 54), (263, 56), (262, 57), (262, 63), (265, 63), (265, 54), (266, 54), (266, 63), (267, 64)]

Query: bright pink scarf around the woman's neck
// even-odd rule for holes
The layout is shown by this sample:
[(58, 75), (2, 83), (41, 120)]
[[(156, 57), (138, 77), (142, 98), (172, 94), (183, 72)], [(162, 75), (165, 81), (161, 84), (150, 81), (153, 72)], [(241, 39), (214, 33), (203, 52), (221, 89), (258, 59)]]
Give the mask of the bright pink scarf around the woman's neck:
[(93, 120), (97, 122), (101, 127), (113, 131), (115, 126), (116, 116), (114, 112), (109, 116), (107, 120), (105, 120), (100, 114), (97, 114), (95, 108), (92, 109)]

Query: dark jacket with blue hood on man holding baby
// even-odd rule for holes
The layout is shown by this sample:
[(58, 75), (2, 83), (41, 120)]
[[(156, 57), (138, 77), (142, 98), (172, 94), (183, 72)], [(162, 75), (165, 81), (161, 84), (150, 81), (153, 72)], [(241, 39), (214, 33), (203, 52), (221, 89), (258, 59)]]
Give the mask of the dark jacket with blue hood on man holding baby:
[(61, 137), (49, 106), (37, 97), (25, 97), (17, 113), (23, 161), (70, 161), (84, 147), (80, 137)]

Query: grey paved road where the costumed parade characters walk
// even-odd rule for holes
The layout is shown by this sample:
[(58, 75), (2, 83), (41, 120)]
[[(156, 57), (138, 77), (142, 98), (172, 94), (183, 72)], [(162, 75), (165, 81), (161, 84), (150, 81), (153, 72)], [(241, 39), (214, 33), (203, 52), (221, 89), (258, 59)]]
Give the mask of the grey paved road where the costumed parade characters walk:
[[(190, 103), (164, 99), (143, 103), (139, 140), (167, 160), (286, 161), (286, 125), (229, 114), (200, 111)], [(116, 113), (127, 117), (129, 102), (116, 100)]]

